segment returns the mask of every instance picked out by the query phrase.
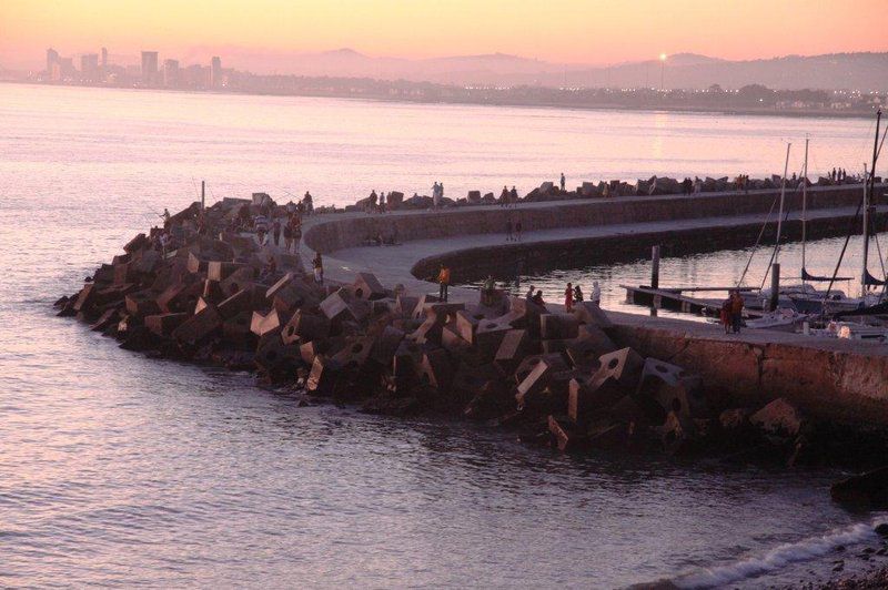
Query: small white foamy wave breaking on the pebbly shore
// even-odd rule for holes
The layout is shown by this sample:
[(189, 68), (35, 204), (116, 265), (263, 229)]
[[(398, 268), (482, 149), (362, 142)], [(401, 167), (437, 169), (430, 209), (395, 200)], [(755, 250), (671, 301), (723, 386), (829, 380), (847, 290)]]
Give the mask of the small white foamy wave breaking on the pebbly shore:
[(879, 537), (874, 529), (884, 520), (881, 518), (870, 523), (861, 522), (849, 528), (833, 530), (823, 537), (811, 537), (795, 543), (781, 545), (763, 557), (744, 559), (729, 566), (679, 576), (673, 580), (673, 583), (678, 588), (686, 589), (716, 588), (755, 578), (763, 573), (779, 570), (788, 563), (823, 557), (839, 546), (875, 541)]

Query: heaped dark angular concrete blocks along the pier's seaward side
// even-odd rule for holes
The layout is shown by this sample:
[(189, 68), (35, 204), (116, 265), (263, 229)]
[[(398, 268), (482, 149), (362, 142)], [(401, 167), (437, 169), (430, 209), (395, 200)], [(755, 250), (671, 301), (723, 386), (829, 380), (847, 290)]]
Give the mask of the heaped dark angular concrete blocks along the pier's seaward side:
[[(548, 206), (534, 213), (556, 217)], [(268, 201), (192, 205), (164, 230), (128, 243), (79, 293), (58, 302), (60, 315), (89, 321), (129, 349), (254, 368), (263, 380), (296, 385), (315, 399), (496, 419), (562, 449), (678, 451), (780, 440), (780, 452), (796, 460), (799, 445), (818, 440), (816, 421), (888, 426), (886, 395), (874, 385), (886, 378), (886, 365), (866, 360), (868, 350), (811, 353), (809, 360), (842, 359), (840, 372), (814, 380), (806, 373), (813, 363), (793, 362), (798, 342), (760, 354), (741, 340), (700, 344), (709, 338), (680, 325), (633, 325), (595, 304), (546, 308), (495, 289), (481, 298), (454, 289), (441, 302), (366, 272), (322, 284), (303, 257), (229, 231), (234, 220), (284, 214)], [(421, 227), (445, 215), (452, 214), (403, 217)], [(307, 223), (309, 246), (355, 221), (325, 217)], [(739, 360), (724, 362), (734, 356)], [(830, 383), (833, 389), (821, 388)]]

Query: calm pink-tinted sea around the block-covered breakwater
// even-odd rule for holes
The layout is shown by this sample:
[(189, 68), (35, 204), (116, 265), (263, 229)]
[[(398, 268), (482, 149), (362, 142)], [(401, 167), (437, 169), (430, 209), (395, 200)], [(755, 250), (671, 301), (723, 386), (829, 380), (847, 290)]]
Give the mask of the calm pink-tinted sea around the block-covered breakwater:
[[(760, 175), (806, 133), (814, 170), (851, 171), (868, 126), (0, 84), (0, 586), (791, 580), (817, 538), (867, 535), (870, 517), (829, 502), (834, 470), (578, 459), (481, 426), (299, 408), (246, 375), (121, 350), (50, 305), (201, 179), (211, 200), (344, 204), (434, 181), (524, 192), (562, 171)], [(668, 278), (745, 262), (708, 256)]]

